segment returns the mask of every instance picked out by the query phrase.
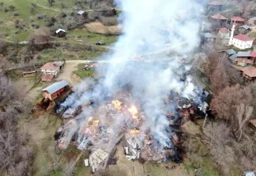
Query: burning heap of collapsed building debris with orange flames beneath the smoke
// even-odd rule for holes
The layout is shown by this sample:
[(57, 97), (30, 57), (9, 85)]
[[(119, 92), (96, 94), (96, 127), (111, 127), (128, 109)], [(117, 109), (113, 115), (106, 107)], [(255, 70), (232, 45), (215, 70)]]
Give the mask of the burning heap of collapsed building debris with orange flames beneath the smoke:
[[(179, 161), (177, 146), (180, 139), (174, 130), (175, 126), (181, 125), (177, 123), (179, 119), (195, 114), (198, 106), (186, 98), (175, 101), (176, 114), (162, 109), (167, 117), (165, 123), (170, 126), (166, 129), (170, 135), (165, 138), (155, 138), (150, 128), (143, 126), (146, 115), (129, 98), (107, 100), (87, 109), (82, 106), (69, 109), (63, 116), (71, 119), (58, 130), (58, 147), (66, 150), (72, 141), (78, 150), (90, 150), (90, 158), (85, 163), (86, 166), (90, 165), (93, 172), (106, 167), (107, 158), (122, 137), (128, 160), (142, 158), (154, 162)], [(204, 111), (204, 106), (200, 107)], [(86, 111), (81, 112), (84, 109)]]

